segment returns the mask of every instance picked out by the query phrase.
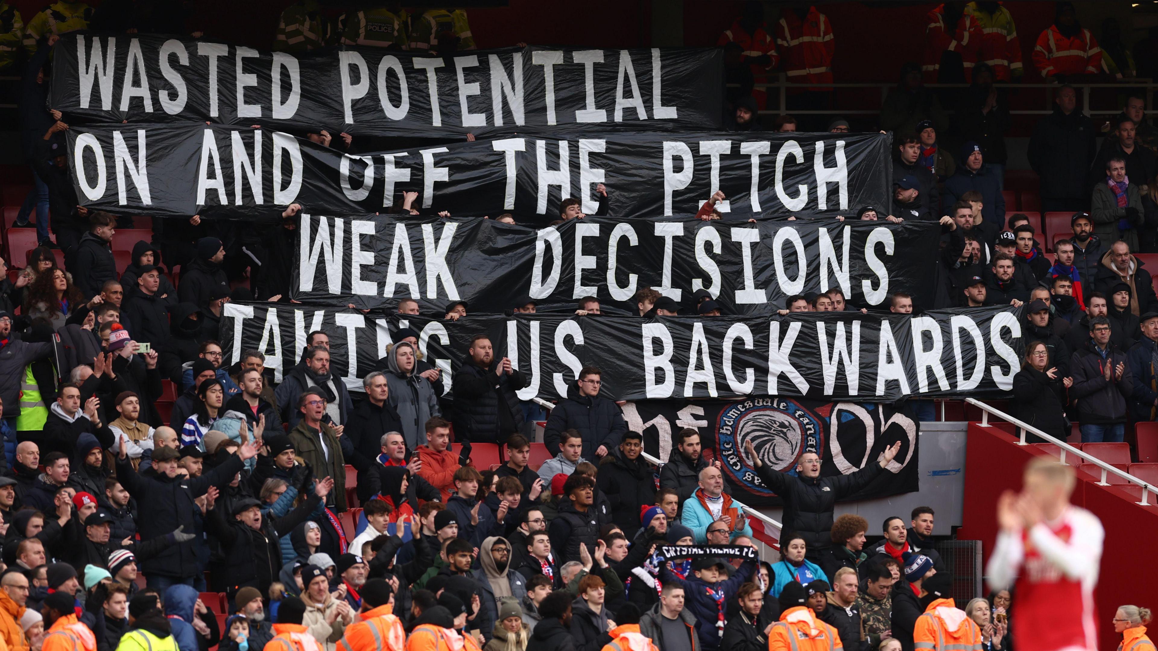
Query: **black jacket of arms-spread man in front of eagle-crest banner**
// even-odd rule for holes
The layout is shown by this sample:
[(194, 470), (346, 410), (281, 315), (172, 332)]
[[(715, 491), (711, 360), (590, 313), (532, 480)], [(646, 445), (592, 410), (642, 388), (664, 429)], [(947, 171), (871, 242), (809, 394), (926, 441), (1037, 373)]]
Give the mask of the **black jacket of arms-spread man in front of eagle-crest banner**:
[(821, 549), (833, 544), (833, 509), (843, 499), (868, 485), (882, 468), (875, 460), (851, 475), (833, 477), (798, 477), (774, 470), (768, 463), (756, 474), (784, 502), (780, 531), (797, 532), (804, 537), (809, 557), (819, 558)]

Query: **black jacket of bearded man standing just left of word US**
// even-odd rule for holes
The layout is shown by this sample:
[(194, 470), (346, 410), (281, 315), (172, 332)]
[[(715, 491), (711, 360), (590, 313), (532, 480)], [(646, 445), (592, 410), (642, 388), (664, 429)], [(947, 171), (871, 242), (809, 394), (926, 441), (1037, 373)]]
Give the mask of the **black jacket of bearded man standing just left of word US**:
[(504, 444), (522, 427), (522, 407), (515, 392), (529, 385), (530, 378), (521, 371), (496, 374), (501, 363), (501, 358), (493, 359), (483, 368), (470, 354), (462, 360), (453, 382), (456, 439)]

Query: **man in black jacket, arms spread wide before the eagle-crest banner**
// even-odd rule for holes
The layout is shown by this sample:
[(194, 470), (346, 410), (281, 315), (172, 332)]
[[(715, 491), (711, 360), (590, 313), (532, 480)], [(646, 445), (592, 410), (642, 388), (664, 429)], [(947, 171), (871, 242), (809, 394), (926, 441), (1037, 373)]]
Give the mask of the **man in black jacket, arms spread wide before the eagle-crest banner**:
[(857, 492), (877, 478), (901, 451), (901, 442), (885, 448), (877, 463), (866, 463), (850, 475), (823, 478), (820, 476), (820, 456), (815, 452), (800, 455), (797, 476), (792, 476), (765, 463), (752, 447), (750, 440), (745, 442), (745, 449), (755, 462), (756, 475), (784, 500), (783, 531), (797, 532), (805, 540), (808, 557), (815, 563), (820, 559), (820, 550), (833, 543), (833, 509), (836, 500)]

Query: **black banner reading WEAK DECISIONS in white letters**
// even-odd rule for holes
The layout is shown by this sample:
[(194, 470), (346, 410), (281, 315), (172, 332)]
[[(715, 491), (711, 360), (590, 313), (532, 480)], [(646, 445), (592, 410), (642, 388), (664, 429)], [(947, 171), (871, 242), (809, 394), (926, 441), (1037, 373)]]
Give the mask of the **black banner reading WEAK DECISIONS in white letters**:
[(573, 312), (584, 297), (629, 313), (645, 287), (676, 301), (705, 288), (725, 314), (769, 315), (789, 295), (840, 288), (867, 307), (906, 292), (919, 309), (932, 305), (939, 234), (929, 221), (586, 218), (534, 229), (493, 219), (303, 214), (292, 295), (359, 308), (415, 299), (441, 316), (452, 300), (468, 301), (471, 313), (528, 299), (541, 312)]

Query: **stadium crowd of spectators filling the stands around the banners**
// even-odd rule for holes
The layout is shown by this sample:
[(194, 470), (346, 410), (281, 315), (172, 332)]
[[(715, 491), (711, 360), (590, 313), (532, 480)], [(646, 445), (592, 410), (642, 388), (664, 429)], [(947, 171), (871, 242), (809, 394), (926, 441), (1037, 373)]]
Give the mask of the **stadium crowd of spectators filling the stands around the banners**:
[[(655, 468), (642, 458), (643, 436), (600, 393), (598, 367), (582, 368), (545, 417), (519, 401), (529, 378), (485, 336), (471, 341), (450, 396), (408, 329), (364, 378), (361, 400), (331, 374), (323, 331), (307, 335), (300, 363), (277, 386), (259, 351), (227, 365), (217, 341), (223, 306), (288, 301), (301, 207), (286, 206), (269, 227), (154, 219), (151, 241), (138, 242), (122, 269), (110, 242), (132, 217), (79, 205), (64, 160), (67, 116), (45, 104), (49, 46), (63, 32), (199, 36), (183, 3), (144, 5), (152, 10), (59, 0), (25, 24), (0, 2), (0, 64), (24, 66), (22, 145), (36, 181), (14, 227), (37, 228), (41, 244), (0, 281), (8, 650), (1011, 649), (1013, 593), (957, 607), (932, 509), (891, 517), (880, 532), (858, 515), (834, 518), (835, 502), (877, 476), (896, 446), (840, 477), (820, 477), (814, 453), (793, 475), (756, 459), (785, 502), (775, 563), (738, 551), (665, 556), (664, 546), (757, 546), (699, 432), (679, 431)], [(1002, 198), (1009, 107), (995, 82), (1026, 73), (998, 2), (951, 2), (930, 14), (928, 57), (906, 66), (880, 115), (880, 129), (895, 134), (894, 200), (856, 218), (939, 220), (930, 307), (1027, 307), (1032, 342), (1014, 378), (1016, 415), (1062, 439), (1073, 418), (1083, 441), (1121, 441), (1129, 423), (1158, 410), (1158, 298), (1134, 256), (1158, 250), (1155, 130), (1144, 97), (1131, 93), (1095, 146), (1097, 130), (1064, 81), (1129, 79), (1134, 58), (1116, 23), (1102, 25), (1099, 47), (1072, 6), (1057, 6), (1032, 60), (1060, 82), (1056, 110), (1029, 146), (1043, 206), (1072, 212), (1072, 237), (1050, 242), (1056, 258), (1045, 255), (1040, 225), (1006, 215)], [(800, 85), (833, 81), (822, 13), (787, 9), (772, 29), (757, 8), (747, 3), (720, 36), (735, 131), (762, 129), (765, 96), (755, 85), (772, 71)], [(461, 9), (331, 15), (306, 1), (284, 12), (273, 49), (334, 44), (475, 47)], [(950, 118), (923, 83), (954, 75), (970, 88)], [(790, 107), (830, 104), (829, 90), (801, 86)], [(775, 119), (777, 131), (798, 126), (787, 115)], [(849, 124), (835, 119), (827, 130)], [(943, 133), (959, 146), (939, 147)], [(349, 133), (302, 136), (360, 147)], [(598, 190), (603, 213), (614, 189)], [(697, 217), (720, 219), (714, 205), (725, 198), (717, 193)], [(416, 199), (406, 192), (393, 210), (417, 212)], [(562, 202), (560, 220), (582, 218), (578, 199)], [(687, 305), (650, 288), (632, 302), (639, 316), (723, 310), (703, 291)], [(396, 307), (418, 313), (412, 300)], [(911, 313), (913, 297), (896, 293), (888, 307)], [(438, 316), (461, 319), (467, 308), (453, 302)], [(471, 309), (527, 313), (535, 303)], [(863, 308), (838, 290), (784, 305), (785, 313), (845, 309)], [(601, 312), (592, 297), (577, 310)], [(169, 383), (174, 401), (162, 410)], [(917, 409), (931, 418), (930, 404)], [(535, 468), (528, 434), (540, 419), (552, 456)], [(477, 467), (471, 441), (500, 444), (506, 461)], [(1122, 606), (1113, 621), (1124, 649), (1149, 643), (1148, 609)]]

